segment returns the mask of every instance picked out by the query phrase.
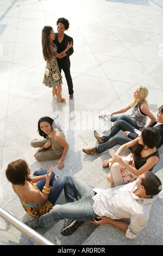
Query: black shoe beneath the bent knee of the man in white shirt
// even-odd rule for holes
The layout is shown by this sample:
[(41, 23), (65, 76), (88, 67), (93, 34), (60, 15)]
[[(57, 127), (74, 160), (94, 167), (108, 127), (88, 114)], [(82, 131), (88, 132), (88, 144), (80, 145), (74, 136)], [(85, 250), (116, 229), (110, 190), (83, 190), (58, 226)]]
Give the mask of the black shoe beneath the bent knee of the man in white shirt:
[(64, 236), (72, 235), (77, 228), (82, 225), (84, 221), (72, 221), (72, 220), (65, 220), (64, 228), (60, 231), (60, 233)]

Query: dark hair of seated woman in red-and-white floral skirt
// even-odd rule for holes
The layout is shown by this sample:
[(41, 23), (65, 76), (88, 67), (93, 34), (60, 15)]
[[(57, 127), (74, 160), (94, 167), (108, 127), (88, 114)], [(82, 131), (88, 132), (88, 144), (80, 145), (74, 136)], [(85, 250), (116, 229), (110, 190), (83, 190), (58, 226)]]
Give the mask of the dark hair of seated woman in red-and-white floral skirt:
[(140, 159), (140, 157), (141, 157), (140, 153), (143, 149), (145, 149), (145, 145), (149, 149), (153, 149), (154, 147), (157, 148), (161, 141), (160, 133), (152, 127), (144, 128), (141, 132), (141, 136), (142, 136), (142, 140), (143, 140), (143, 145), (141, 145), (141, 144), (139, 144), (139, 142), (137, 142), (131, 148), (132, 153), (134, 154), (134, 156), (137, 159)]

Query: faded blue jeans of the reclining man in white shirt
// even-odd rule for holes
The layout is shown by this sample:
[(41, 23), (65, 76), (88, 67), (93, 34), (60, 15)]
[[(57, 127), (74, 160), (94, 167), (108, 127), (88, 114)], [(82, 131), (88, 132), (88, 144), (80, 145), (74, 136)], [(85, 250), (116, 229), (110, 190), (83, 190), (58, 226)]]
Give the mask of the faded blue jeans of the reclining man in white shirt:
[(55, 205), (47, 214), (37, 218), (39, 227), (51, 227), (60, 220), (92, 221), (97, 215), (93, 211), (95, 191), (85, 181), (74, 176), (65, 176), (66, 204)]

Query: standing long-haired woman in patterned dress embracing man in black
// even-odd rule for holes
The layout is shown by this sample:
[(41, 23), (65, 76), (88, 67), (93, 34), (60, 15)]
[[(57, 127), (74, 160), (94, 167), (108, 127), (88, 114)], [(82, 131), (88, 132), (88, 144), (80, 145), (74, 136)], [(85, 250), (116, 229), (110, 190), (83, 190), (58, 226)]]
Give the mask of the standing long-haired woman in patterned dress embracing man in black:
[[(62, 76), (60, 74), (57, 57), (61, 58), (63, 53), (67, 52), (72, 47), (72, 42), (67, 44), (66, 49), (60, 54), (57, 53), (57, 46), (53, 40), (55, 34), (51, 26), (45, 26), (42, 29), (42, 52), (43, 57), (46, 60), (45, 75), (43, 78), (43, 84), (47, 87), (53, 87), (52, 93), (57, 96), (57, 102), (65, 102), (65, 99), (61, 97), (61, 84)], [(56, 89), (57, 87), (57, 89)]]

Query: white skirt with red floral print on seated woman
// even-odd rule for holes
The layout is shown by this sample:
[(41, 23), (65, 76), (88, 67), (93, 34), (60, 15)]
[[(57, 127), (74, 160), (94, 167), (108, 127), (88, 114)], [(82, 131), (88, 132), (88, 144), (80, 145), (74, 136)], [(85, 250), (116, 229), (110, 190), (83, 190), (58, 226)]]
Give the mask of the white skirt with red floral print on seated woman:
[[(131, 167), (135, 168), (133, 154), (129, 154), (128, 156), (121, 156), (122, 160), (128, 163)], [(123, 184), (128, 184), (129, 182), (133, 182), (138, 178), (138, 176), (131, 173), (126, 167), (122, 166), (120, 163), (114, 163), (111, 167), (111, 175), (114, 180), (115, 186), (120, 186)]]

